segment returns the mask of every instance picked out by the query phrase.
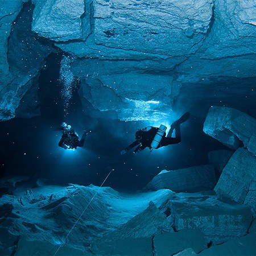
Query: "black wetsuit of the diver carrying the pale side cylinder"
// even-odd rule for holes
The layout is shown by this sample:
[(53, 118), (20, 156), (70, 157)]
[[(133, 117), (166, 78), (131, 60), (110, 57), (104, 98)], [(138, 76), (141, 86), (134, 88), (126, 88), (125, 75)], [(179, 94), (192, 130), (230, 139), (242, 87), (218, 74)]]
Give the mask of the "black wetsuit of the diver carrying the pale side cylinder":
[[(131, 143), (128, 147), (125, 148), (126, 151), (131, 150), (131, 148), (138, 146), (133, 152), (137, 154), (137, 152), (143, 150), (146, 147), (151, 148), (151, 142), (155, 138), (155, 135), (157, 133), (159, 128), (157, 127), (152, 127), (148, 131), (145, 131), (144, 129), (139, 130), (141, 131), (141, 138), (137, 139), (133, 143)], [(166, 133), (164, 133), (159, 145), (159, 147), (164, 147), (168, 146), (170, 144), (177, 144), (181, 142), (181, 136), (180, 136), (180, 126), (175, 127), (175, 138), (172, 137), (166, 137)]]

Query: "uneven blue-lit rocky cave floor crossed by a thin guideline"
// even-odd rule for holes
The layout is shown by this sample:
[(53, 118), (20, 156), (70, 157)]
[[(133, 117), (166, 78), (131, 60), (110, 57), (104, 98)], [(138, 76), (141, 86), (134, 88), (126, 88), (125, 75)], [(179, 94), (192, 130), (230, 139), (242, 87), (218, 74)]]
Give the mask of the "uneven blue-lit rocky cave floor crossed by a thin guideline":
[(13, 195), (0, 199), (1, 234), (5, 236), (0, 250), (7, 255), (56, 251), (96, 191), (61, 246), (65, 255), (127, 255), (127, 251), (163, 255), (163, 251), (179, 253), (187, 248), (198, 252), (210, 241), (218, 244), (245, 236), (252, 220), (247, 205), (222, 202), (202, 192), (161, 189), (129, 195), (93, 185), (30, 187), (16, 183)]

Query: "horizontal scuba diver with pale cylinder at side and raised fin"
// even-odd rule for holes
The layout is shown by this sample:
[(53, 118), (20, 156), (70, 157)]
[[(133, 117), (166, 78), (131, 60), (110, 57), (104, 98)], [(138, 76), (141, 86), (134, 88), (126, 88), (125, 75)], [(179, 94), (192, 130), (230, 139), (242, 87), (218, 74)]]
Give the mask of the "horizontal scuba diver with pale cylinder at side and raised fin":
[[(133, 153), (137, 155), (140, 151), (144, 150), (144, 148), (149, 147), (152, 151), (153, 148), (159, 148), (168, 146), (170, 144), (177, 144), (181, 142), (181, 134), (180, 134), (180, 124), (187, 121), (189, 118), (189, 113), (183, 114), (176, 122), (172, 123), (171, 129), (168, 132), (166, 137), (166, 129), (167, 127), (161, 125), (158, 127), (147, 126), (141, 130), (138, 130), (135, 133), (135, 139), (133, 143), (131, 143), (128, 147), (121, 151), (121, 155), (126, 154), (128, 150), (135, 148)], [(175, 137), (171, 137), (172, 132), (175, 130)]]

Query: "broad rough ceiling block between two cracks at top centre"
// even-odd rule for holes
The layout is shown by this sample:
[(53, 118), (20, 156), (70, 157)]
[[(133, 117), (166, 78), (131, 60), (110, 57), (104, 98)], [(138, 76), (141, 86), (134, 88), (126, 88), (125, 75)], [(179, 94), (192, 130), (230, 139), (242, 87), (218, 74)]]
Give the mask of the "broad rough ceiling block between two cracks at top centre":
[[(137, 57), (150, 53), (163, 55), (164, 58), (189, 55), (199, 48), (207, 34), (212, 6), (212, 1), (205, 0), (183, 3), (92, 1), (91, 10), (86, 10), (84, 14), (84, 18), (93, 24), (92, 35), (80, 47), (76, 45), (77, 49), (82, 48), (83, 56), (78, 52), (75, 55), (85, 57), (96, 48), (100, 50), (97, 55), (102, 56), (104, 48), (101, 52), (101, 46), (105, 47), (105, 51), (110, 49), (110, 54), (106, 53), (112, 58), (118, 58), (120, 54), (129, 58), (130, 53)], [(113, 48), (116, 49), (114, 56)]]

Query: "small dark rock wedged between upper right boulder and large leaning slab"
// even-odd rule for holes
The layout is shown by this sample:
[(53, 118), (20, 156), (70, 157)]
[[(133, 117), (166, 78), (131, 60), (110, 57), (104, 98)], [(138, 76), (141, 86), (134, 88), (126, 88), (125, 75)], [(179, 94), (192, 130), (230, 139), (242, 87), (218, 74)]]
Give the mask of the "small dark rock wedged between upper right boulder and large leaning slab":
[(229, 150), (214, 150), (208, 153), (209, 163), (214, 166), (214, 169), (221, 174), (222, 170), (225, 168), (229, 159), (233, 155), (233, 151)]

